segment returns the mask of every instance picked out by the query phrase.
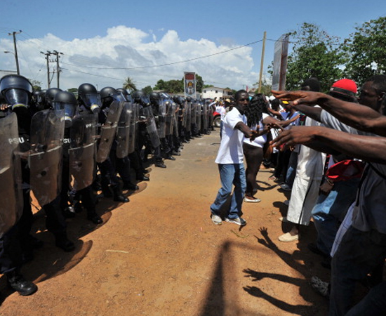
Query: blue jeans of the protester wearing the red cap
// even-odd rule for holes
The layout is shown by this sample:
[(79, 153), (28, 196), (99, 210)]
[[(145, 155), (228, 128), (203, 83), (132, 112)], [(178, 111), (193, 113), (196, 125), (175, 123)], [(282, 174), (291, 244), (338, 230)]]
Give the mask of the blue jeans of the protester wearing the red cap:
[(347, 209), (354, 202), (359, 179), (335, 183), (328, 195), (321, 194), (312, 209), (312, 218), (317, 229), (317, 246), (326, 256), (330, 256), (335, 235)]

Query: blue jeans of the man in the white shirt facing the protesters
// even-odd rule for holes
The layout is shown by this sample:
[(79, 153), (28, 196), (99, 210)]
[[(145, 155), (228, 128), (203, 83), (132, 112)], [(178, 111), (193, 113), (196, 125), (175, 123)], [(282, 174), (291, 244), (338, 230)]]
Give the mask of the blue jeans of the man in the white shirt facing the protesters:
[(241, 205), (246, 190), (244, 164), (218, 164), (218, 171), (220, 171), (221, 187), (218, 190), (215, 202), (211, 205), (211, 212), (220, 216), (220, 210), (227, 202), (229, 195), (232, 194), (232, 185), (234, 185), (232, 202), (227, 217), (237, 218), (241, 216)]

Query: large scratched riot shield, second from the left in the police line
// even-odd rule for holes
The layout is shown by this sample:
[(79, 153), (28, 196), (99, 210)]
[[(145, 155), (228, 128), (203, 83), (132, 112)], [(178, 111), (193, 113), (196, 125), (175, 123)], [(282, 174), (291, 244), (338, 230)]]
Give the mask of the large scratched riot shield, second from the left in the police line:
[(60, 193), (64, 133), (64, 110), (39, 111), (32, 117), (28, 159), (31, 189), (40, 206), (52, 202)]

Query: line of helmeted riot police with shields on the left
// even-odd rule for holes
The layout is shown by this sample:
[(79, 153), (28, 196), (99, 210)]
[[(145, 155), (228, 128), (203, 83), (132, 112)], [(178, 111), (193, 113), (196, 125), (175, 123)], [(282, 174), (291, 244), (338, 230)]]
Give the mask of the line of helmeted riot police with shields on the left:
[(73, 251), (66, 218), (82, 210), (103, 223), (98, 199), (127, 203), (149, 181), (145, 162), (166, 169), (184, 144), (213, 131), (211, 100), (84, 83), (77, 95), (34, 91), (28, 79), (0, 79), (0, 274), (22, 296), (36, 292), (20, 269), (44, 246), (32, 233), (32, 193), (55, 246)]

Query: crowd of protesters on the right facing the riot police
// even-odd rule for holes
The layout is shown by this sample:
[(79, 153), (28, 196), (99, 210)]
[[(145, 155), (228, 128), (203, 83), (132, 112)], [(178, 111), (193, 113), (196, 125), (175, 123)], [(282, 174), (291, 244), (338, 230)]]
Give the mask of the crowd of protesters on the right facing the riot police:
[[(314, 222), (317, 239), (308, 248), (331, 269), (331, 279), (312, 277), (311, 284), (329, 298), (328, 315), (385, 315), (386, 76), (367, 79), (359, 96), (350, 79), (334, 82), (328, 94), (319, 90), (318, 79), (310, 78), (299, 91), (272, 91), (269, 98), (236, 93), (222, 120), (215, 160), (221, 187), (211, 219), (246, 225), (242, 203), (260, 202), (258, 169), (272, 168), (269, 180), (291, 191), (287, 215), (279, 219), (292, 228), (279, 241), (300, 239), (301, 227)], [(371, 290), (353, 306), (357, 282)]]

